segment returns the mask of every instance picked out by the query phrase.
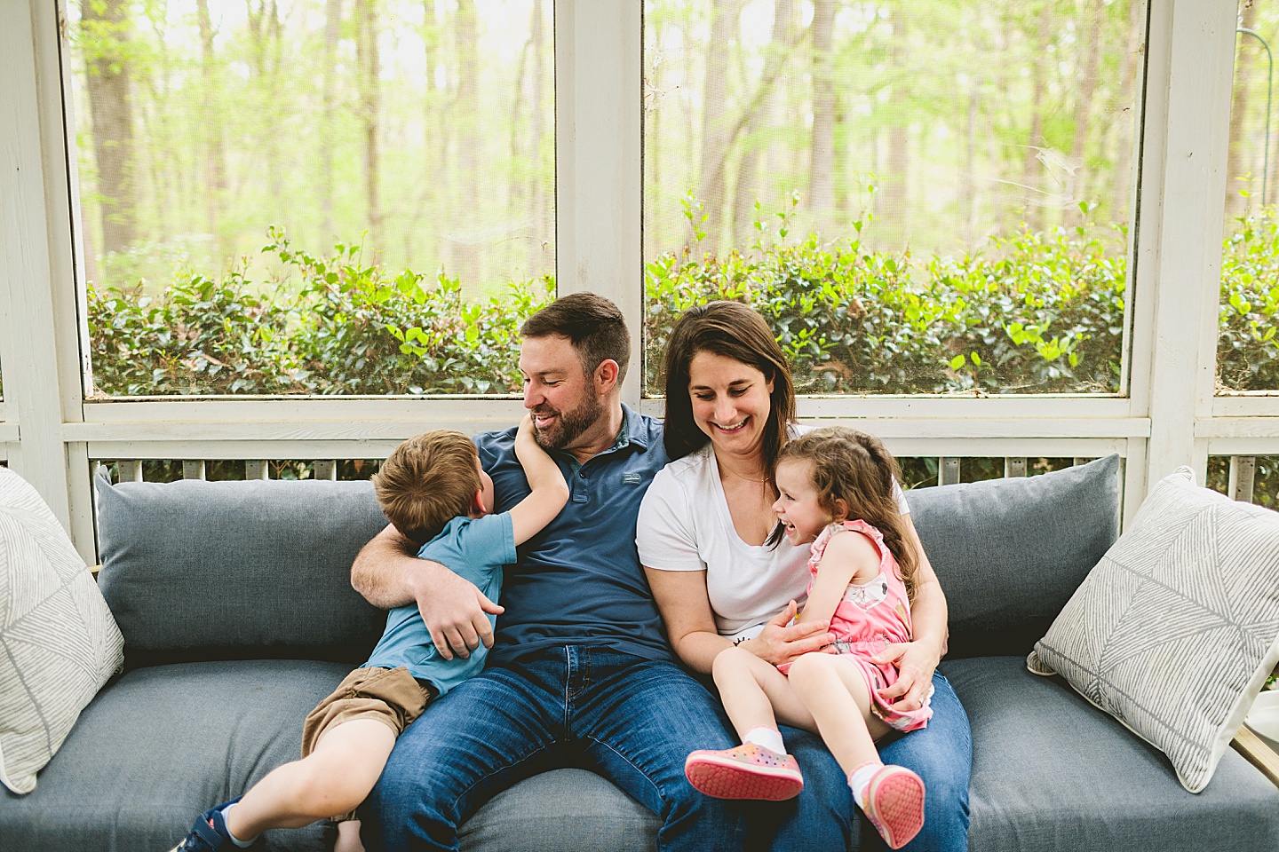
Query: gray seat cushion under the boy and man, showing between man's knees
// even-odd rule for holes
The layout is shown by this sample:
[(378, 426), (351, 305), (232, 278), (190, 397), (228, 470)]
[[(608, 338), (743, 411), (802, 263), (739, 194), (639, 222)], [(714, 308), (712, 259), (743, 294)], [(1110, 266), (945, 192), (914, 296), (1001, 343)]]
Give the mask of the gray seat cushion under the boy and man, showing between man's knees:
[[(133, 669), (84, 709), (36, 791), (0, 796), (0, 852), (168, 849), (207, 807), (297, 760), (302, 720), (348, 667), (316, 660)], [(660, 821), (599, 775), (560, 769), (498, 795), (462, 826), (467, 852), (652, 848)], [(262, 849), (330, 848), (324, 824)]]

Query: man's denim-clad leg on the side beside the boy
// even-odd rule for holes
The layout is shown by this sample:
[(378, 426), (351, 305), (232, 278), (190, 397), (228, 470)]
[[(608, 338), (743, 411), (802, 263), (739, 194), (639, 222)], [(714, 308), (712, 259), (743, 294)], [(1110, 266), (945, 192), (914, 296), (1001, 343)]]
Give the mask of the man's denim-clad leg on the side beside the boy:
[(404, 729), (361, 809), (366, 846), (457, 849), (458, 825), (480, 805), (554, 765), (563, 683), (550, 688), (541, 663), (487, 668)]

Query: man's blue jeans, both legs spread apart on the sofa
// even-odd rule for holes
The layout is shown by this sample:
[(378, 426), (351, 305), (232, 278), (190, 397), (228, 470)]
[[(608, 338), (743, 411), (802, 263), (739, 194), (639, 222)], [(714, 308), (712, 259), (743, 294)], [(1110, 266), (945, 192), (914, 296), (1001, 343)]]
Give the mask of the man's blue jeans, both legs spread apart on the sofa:
[(517, 780), (591, 769), (657, 814), (657, 848), (741, 849), (747, 809), (684, 778), (692, 749), (729, 749), (719, 701), (674, 663), (570, 645), (496, 664), (435, 701), (395, 743), (365, 807), (388, 852), (457, 849), (458, 825)]

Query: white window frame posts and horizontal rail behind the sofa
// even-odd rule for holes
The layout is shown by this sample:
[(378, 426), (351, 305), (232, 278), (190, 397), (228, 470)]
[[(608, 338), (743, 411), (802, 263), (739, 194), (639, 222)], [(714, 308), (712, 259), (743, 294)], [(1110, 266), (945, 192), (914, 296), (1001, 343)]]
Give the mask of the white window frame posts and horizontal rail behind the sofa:
[[(65, 0), (56, 0), (61, 6)], [(518, 400), (83, 401), (74, 281), (75, 158), (54, 0), (0, 0), (0, 460), (95, 558), (95, 459), (370, 459), (431, 427), (480, 430)], [(1151, 4), (1131, 280), (1128, 396), (813, 397), (804, 420), (856, 423), (899, 455), (1126, 459), (1126, 517), (1149, 483), (1209, 455), (1279, 455), (1279, 393), (1214, 397), (1236, 0)], [(616, 301), (641, 399), (642, 0), (555, 4), (559, 291)]]

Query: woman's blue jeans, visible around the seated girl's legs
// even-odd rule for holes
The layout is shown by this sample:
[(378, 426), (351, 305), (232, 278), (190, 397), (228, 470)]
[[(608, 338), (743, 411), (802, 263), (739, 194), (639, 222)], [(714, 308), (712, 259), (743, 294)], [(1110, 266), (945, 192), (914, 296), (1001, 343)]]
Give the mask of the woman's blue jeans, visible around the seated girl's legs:
[[(968, 714), (950, 681), (935, 673), (932, 688), (929, 727), (880, 742), (880, 759), (913, 769), (926, 789), (923, 830), (902, 848), (908, 852), (967, 852), (972, 732)], [(849, 839), (859, 832), (858, 848), (885, 848), (870, 820), (862, 819), (853, 803), (848, 778), (821, 738), (788, 727), (781, 728), (781, 736), (787, 751), (799, 761), (803, 792), (789, 802), (758, 802), (758, 821), (752, 825), (752, 837), (773, 838), (766, 848), (776, 852), (835, 852), (847, 849)]]

